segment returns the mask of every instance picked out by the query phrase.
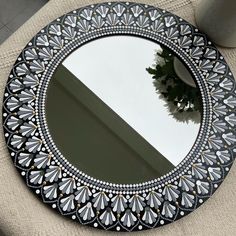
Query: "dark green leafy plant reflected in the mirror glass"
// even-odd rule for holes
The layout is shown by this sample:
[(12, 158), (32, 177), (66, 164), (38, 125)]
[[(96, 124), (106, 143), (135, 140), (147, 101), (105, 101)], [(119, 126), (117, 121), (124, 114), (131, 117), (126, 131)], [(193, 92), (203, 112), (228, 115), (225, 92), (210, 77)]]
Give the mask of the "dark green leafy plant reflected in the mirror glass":
[[(153, 67), (146, 70), (155, 79), (153, 84), (156, 91), (168, 103), (171, 114), (178, 120), (187, 122), (192, 119), (197, 122), (199, 119), (194, 119), (193, 116), (201, 112), (200, 91), (178, 77), (174, 69), (174, 55), (166, 48), (157, 51)], [(180, 113), (182, 113), (181, 118)], [(199, 114), (197, 116), (199, 117)]]

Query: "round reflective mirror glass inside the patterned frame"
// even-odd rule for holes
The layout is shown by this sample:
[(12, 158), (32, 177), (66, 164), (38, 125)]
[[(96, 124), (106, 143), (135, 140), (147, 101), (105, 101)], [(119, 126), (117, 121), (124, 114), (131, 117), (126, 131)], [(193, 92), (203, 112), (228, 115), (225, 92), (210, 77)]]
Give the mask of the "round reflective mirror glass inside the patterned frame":
[(194, 145), (201, 109), (200, 92), (173, 52), (125, 35), (76, 49), (57, 67), (46, 98), (62, 155), (87, 175), (120, 184), (175, 168)]

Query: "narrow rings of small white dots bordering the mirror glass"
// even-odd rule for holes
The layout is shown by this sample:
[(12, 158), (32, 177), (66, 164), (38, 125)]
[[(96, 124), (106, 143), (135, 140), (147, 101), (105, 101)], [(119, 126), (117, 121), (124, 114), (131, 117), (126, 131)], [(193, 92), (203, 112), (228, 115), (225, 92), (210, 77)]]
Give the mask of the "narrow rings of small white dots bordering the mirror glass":
[[(179, 18), (179, 19), (181, 19), (181, 18)], [(106, 28), (106, 29), (107, 29), (107, 28), (112, 28), (113, 30), (115, 30), (116, 27), (103, 27), (102, 30), (104, 30), (105, 28)], [(124, 28), (125, 30), (128, 30), (128, 29), (137, 29), (137, 28), (138, 28), (139, 30), (142, 30), (142, 31), (144, 31), (144, 32), (146, 31), (146, 32), (149, 32), (149, 33), (150, 33), (149, 30), (146, 30), (146, 29), (143, 29), (143, 28), (139, 28), (139, 27), (133, 27), (133, 26), (128, 26), (128, 27), (127, 27), (127, 26), (125, 26), (125, 27), (124, 27), (124, 26), (118, 26), (118, 28), (119, 28), (119, 29)], [(91, 30), (89, 33), (94, 33), (94, 32), (98, 32), (98, 33), (99, 33), (99, 31), (101, 31), (101, 30)], [(116, 34), (118, 34), (118, 33), (119, 33), (119, 32), (115, 32), (115, 31), (113, 31), (113, 32), (107, 32), (107, 34), (104, 34), (104, 33), (103, 33), (102, 36), (116, 35)], [(122, 33), (122, 32), (121, 32), (121, 33)], [(205, 85), (205, 89), (207, 90), (207, 93), (208, 93), (208, 101), (209, 101), (209, 105), (210, 105), (210, 116), (208, 117), (208, 119), (209, 119), (209, 124), (211, 124), (211, 123), (212, 123), (212, 102), (211, 102), (211, 97), (209, 96), (209, 88), (208, 88), (207, 82), (204, 80), (205, 77), (204, 77), (204, 75), (202, 74), (201, 70), (197, 67), (197, 64), (194, 62), (194, 60), (193, 60), (191, 57), (189, 57), (189, 55), (188, 55), (181, 47), (179, 47), (177, 44), (175, 44), (173, 41), (169, 40), (168, 38), (162, 36), (161, 34), (158, 34), (158, 33), (155, 33), (155, 32), (152, 32), (152, 33), (153, 33), (154, 35), (157, 35), (157, 36), (159, 36), (159, 37), (165, 39), (166, 41), (168, 41), (168, 43), (170, 43), (170, 44), (172, 44), (173, 46), (177, 47), (177, 48), (181, 51), (181, 53), (184, 54), (184, 56), (183, 56), (183, 54), (182, 54), (182, 55), (179, 54), (178, 51), (174, 51), (174, 53), (177, 54), (177, 55), (181, 58), (181, 60), (184, 62), (184, 64), (187, 65), (188, 69), (191, 70), (192, 74), (194, 75), (195, 81), (197, 82), (197, 84), (198, 84), (198, 86), (199, 86), (199, 89), (200, 89), (200, 91), (201, 91), (201, 95), (203, 94), (203, 89), (202, 89), (202, 87), (201, 87), (201, 86), (202, 86), (202, 85), (201, 85), (201, 82), (203, 82), (203, 84)], [(125, 31), (124, 34), (131, 34), (131, 32)], [(83, 36), (84, 36), (84, 35), (82, 35), (82, 37), (83, 37)], [(165, 42), (159, 42), (157, 38), (149, 37), (149, 36), (147, 36), (146, 34), (137, 34), (137, 33), (135, 34), (134, 32), (132, 32), (132, 36), (141, 36), (141, 37), (144, 37), (144, 38), (149, 39), (149, 40), (154, 40), (155, 42), (160, 43), (160, 44), (163, 44), (163, 45), (165, 45), (166, 47), (168, 47), (169, 49), (171, 49), (171, 50), (173, 51), (173, 49), (172, 49), (172, 47), (170, 47), (170, 45), (167, 45)], [(84, 42), (91, 41), (92, 38), (95, 39), (95, 38), (100, 38), (100, 37), (101, 37), (101, 36), (97, 36), (97, 35), (96, 35), (95, 37), (91, 37), (90, 40), (84, 40)], [(78, 39), (80, 39), (80, 38), (81, 38), (81, 37), (77, 37), (76, 40), (78, 40)], [(39, 93), (41, 92), (42, 83), (43, 83), (43, 81), (44, 81), (44, 79), (45, 79), (45, 73), (47, 73), (48, 68), (50, 68), (50, 66), (51, 66), (51, 64), (54, 62), (55, 58), (56, 58), (60, 53), (62, 53), (62, 50), (66, 49), (66, 48), (67, 48), (70, 44), (72, 44), (74, 41), (75, 41), (75, 40), (72, 40), (71, 42), (69, 42), (68, 44), (66, 44), (59, 52), (57, 52), (57, 53), (55, 54), (55, 56), (52, 58), (52, 60), (50, 61), (50, 63), (46, 65), (46, 69), (45, 69), (44, 73), (42, 74), (42, 77), (41, 77), (41, 80), (40, 80), (40, 84), (39, 84), (39, 87), (38, 87), (38, 90), (37, 90), (37, 96), (36, 96), (36, 102), (35, 102), (35, 105), (36, 105), (36, 106), (35, 106), (35, 107), (36, 107), (36, 121), (37, 121), (37, 125), (38, 125), (38, 128), (39, 128), (40, 137), (42, 138), (42, 141), (43, 141), (43, 143), (44, 143), (44, 145), (45, 145), (47, 151), (49, 152), (49, 154), (52, 155), (52, 158), (54, 159), (54, 161), (55, 161), (68, 175), (75, 177), (75, 179), (78, 180), (80, 183), (83, 183), (83, 184), (86, 183), (86, 185), (88, 185), (88, 186), (90, 186), (90, 187), (93, 187), (93, 188), (95, 187), (95, 188), (97, 188), (97, 186), (94, 186), (93, 184), (90, 184), (90, 183), (88, 183), (88, 182), (86, 182), (86, 181), (84, 181), (84, 180), (81, 180), (79, 177), (73, 175), (73, 174), (67, 169), (67, 167), (64, 167), (63, 164), (52, 154), (52, 151), (51, 151), (51, 149), (49, 148), (49, 146), (48, 146), (48, 144), (47, 144), (47, 142), (46, 142), (46, 140), (45, 140), (45, 138), (44, 138), (44, 133), (41, 131), (41, 124), (39, 123), (39, 116), (38, 116), (38, 109), (39, 109), (39, 108), (38, 108), (38, 99), (39, 99)], [(207, 42), (209, 42), (209, 41), (207, 41)], [(82, 42), (82, 45), (83, 45), (83, 44), (84, 44), (84, 43)], [(80, 47), (80, 45), (77, 45), (75, 48), (79, 48), (79, 47)], [(66, 58), (66, 56), (68, 56), (68, 54), (70, 54), (75, 48), (73, 47), (70, 51), (67, 51), (67, 52), (63, 55), (63, 57), (61, 57), (60, 61), (57, 61), (57, 62), (56, 62), (56, 66), (53, 68), (52, 72), (50, 73), (51, 76), (52, 76), (52, 74), (53, 74), (53, 71), (57, 68), (57, 66), (58, 66), (58, 65)], [(199, 78), (197, 77), (196, 73), (194, 72), (193, 67), (185, 60), (185, 58), (188, 58), (188, 60), (190, 60), (191, 63), (195, 66), (195, 69), (198, 70), (198, 73), (199, 73), (200, 76), (201, 76), (201, 82), (200, 82)], [(46, 123), (46, 117), (45, 117), (45, 98), (46, 98), (47, 87), (48, 87), (48, 84), (49, 84), (49, 82), (50, 82), (51, 76), (50, 76), (49, 78), (46, 78), (46, 79), (47, 79), (47, 83), (46, 83), (45, 89), (44, 89), (44, 91), (43, 91), (43, 103), (42, 103), (42, 105), (43, 105), (43, 106), (42, 106), (43, 118), (42, 118), (42, 119), (43, 119), (43, 121), (45, 122), (45, 124), (43, 124), (43, 125), (45, 126), (46, 134), (47, 134), (47, 136), (49, 137), (50, 142), (52, 143), (52, 145), (54, 145), (55, 151), (58, 153), (58, 155), (60, 155), (60, 157), (61, 157), (67, 164), (69, 164), (69, 168), (74, 169), (77, 174), (80, 174), (80, 175), (82, 175), (82, 176), (84, 176), (84, 177), (86, 177), (86, 178), (88, 178), (88, 179), (91, 179), (91, 180), (93, 180), (94, 182), (96, 182), (96, 183), (98, 183), (98, 184), (103, 184), (103, 185), (110, 186), (110, 187), (115, 187), (115, 188), (132, 188), (132, 187), (133, 187), (133, 188), (140, 188), (140, 187), (145, 187), (145, 185), (157, 183), (157, 182), (159, 182), (159, 181), (164, 181), (165, 178), (167, 178), (168, 176), (175, 174), (175, 172), (176, 172), (177, 170), (179, 170), (179, 168), (181, 168), (182, 165), (185, 164), (185, 162), (186, 162), (187, 160), (189, 160), (191, 154), (192, 154), (193, 151), (196, 149), (196, 147), (199, 146), (199, 139), (200, 139), (201, 136), (202, 136), (203, 129), (206, 128), (205, 125), (204, 125), (204, 123), (205, 123), (205, 119), (207, 118), (207, 117), (206, 117), (206, 106), (205, 106), (205, 104), (204, 104), (205, 98), (204, 98), (203, 96), (201, 97), (201, 98), (202, 98), (202, 106), (203, 106), (202, 123), (201, 123), (200, 129), (199, 129), (199, 133), (198, 133), (198, 135), (197, 135), (196, 141), (195, 141), (194, 145), (192, 146), (192, 148), (190, 149), (190, 151), (189, 151), (189, 153), (187, 154), (187, 156), (185, 156), (185, 158), (184, 158), (172, 171), (168, 172), (167, 174), (165, 174), (165, 175), (163, 175), (163, 176), (161, 176), (161, 177), (159, 177), (159, 178), (157, 178), (157, 179), (152, 179), (152, 180), (150, 180), (150, 181), (146, 181), (146, 182), (142, 182), (142, 183), (137, 183), (137, 184), (116, 184), (116, 183), (110, 183), (110, 182), (106, 182), (106, 181), (101, 181), (101, 180), (99, 180), (99, 179), (96, 179), (96, 178), (93, 178), (93, 177), (91, 177), (91, 176), (88, 176), (87, 174), (85, 174), (84, 172), (80, 171), (78, 168), (74, 167), (73, 165), (71, 165), (71, 164), (67, 161), (67, 159), (61, 154), (61, 152), (59, 151), (59, 149), (56, 147), (56, 144), (54, 143), (54, 141), (53, 141), (53, 139), (52, 139), (52, 137), (51, 137), (51, 135), (50, 135), (50, 133), (49, 133), (49, 129), (48, 129), (48, 126), (47, 126), (47, 123)], [(205, 145), (206, 145), (206, 142), (207, 142), (206, 139), (207, 139), (208, 136), (209, 136), (210, 128), (211, 128), (211, 125), (209, 125), (209, 126), (207, 127), (207, 137), (205, 137), (204, 142), (201, 144), (200, 151), (198, 152), (198, 154), (196, 155), (196, 157), (193, 158), (193, 160), (192, 160), (191, 163), (188, 165), (188, 167), (186, 167), (182, 173), (176, 175), (176, 176), (175, 176), (174, 178), (172, 178), (171, 180), (168, 180), (167, 182), (165, 182), (165, 184), (166, 184), (166, 183), (172, 183), (172, 182), (176, 181), (181, 175), (183, 175), (184, 173), (186, 173), (186, 171), (188, 171), (188, 170), (191, 168), (191, 165), (192, 165), (193, 163), (196, 162), (196, 160), (199, 158), (200, 152), (204, 149), (204, 147), (205, 147)], [(145, 192), (149, 192), (150, 190), (156, 190), (156, 189), (158, 189), (158, 188), (160, 188), (160, 187), (164, 187), (165, 184), (162, 183), (162, 184), (159, 184), (158, 186), (155, 186), (154, 188), (152, 187), (151, 189), (145, 189)], [(101, 189), (104, 190), (104, 188), (101, 188)], [(108, 191), (109, 191), (109, 190), (108, 190)], [(128, 191), (129, 191), (129, 193), (140, 193), (140, 192), (143, 192), (143, 190), (134, 190), (134, 189), (129, 189)], [(123, 193), (124, 190), (119, 191), (119, 192), (122, 192), (122, 193)], [(127, 193), (127, 192), (125, 192), (125, 193)]]

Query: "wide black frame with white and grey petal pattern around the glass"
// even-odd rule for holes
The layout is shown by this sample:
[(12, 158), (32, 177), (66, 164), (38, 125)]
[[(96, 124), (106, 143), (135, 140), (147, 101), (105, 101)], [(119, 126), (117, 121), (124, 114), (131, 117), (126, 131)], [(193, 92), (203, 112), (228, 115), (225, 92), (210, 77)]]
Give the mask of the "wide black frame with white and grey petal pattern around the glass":
[[(203, 103), (201, 128), (188, 156), (165, 176), (130, 185), (100, 181), (73, 167), (45, 119), (47, 86), (61, 61), (88, 41), (120, 34), (171, 49), (193, 74)], [(28, 43), (7, 82), (3, 126), (15, 166), (43, 202), (81, 224), (132, 231), (173, 222), (214, 193), (236, 152), (235, 107), (232, 73), (205, 35), (167, 11), (112, 2), (70, 12)]]

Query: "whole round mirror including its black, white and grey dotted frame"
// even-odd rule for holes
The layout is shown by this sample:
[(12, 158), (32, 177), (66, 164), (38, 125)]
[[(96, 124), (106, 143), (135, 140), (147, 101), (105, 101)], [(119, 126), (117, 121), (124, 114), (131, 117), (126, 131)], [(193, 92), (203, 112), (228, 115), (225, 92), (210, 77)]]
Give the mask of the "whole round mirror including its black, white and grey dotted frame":
[(225, 179), (235, 87), (224, 57), (184, 19), (93, 4), (45, 26), (18, 56), (6, 144), (27, 186), (62, 215), (151, 229), (188, 215)]

